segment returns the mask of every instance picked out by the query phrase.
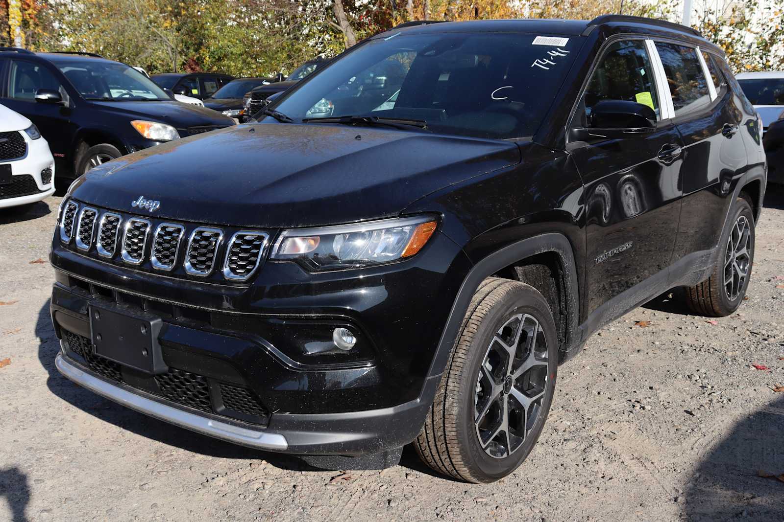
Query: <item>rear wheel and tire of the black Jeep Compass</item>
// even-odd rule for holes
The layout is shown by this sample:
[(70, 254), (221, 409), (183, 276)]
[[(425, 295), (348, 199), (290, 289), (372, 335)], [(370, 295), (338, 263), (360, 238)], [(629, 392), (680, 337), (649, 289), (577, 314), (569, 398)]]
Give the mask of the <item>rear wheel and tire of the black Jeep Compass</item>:
[(686, 303), (696, 315), (731, 315), (746, 296), (754, 261), (754, 214), (749, 202), (739, 197), (731, 215), (721, 234), (721, 253), (713, 273), (686, 289)]

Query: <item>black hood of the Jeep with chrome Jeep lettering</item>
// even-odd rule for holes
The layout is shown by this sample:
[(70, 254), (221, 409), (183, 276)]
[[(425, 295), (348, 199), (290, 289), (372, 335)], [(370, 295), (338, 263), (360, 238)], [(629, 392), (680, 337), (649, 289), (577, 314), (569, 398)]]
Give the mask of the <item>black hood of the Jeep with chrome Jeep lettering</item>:
[[(89, 171), (73, 196), (117, 211), (254, 228), (399, 214), (446, 185), (520, 161), (514, 142), (330, 124), (249, 124)], [(131, 207), (159, 200), (154, 214)]]

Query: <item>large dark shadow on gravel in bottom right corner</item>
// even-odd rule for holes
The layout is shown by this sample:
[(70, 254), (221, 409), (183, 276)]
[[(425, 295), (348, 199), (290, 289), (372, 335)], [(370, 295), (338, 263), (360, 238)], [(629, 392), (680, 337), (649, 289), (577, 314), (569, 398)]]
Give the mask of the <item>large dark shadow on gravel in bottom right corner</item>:
[(702, 459), (684, 493), (688, 520), (784, 520), (784, 482), (760, 471), (784, 477), (784, 397), (743, 419)]

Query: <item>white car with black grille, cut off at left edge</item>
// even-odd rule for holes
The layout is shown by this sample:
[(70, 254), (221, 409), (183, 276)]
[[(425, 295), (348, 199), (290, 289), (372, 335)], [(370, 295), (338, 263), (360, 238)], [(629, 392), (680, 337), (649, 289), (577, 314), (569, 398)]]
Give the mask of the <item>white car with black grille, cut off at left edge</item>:
[(54, 158), (38, 128), (0, 105), (0, 208), (43, 200), (54, 193)]

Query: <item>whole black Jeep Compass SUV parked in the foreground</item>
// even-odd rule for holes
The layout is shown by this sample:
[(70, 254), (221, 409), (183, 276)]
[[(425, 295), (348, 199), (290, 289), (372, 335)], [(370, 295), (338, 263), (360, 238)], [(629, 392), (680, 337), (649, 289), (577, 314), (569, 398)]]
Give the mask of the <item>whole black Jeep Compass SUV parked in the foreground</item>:
[[(405, 74), (346, 88), (387, 60)], [(262, 118), (71, 187), (51, 255), (68, 379), (314, 466), (413, 442), (494, 481), (593, 331), (677, 286), (728, 315), (749, 284), (760, 121), (687, 27), (396, 28)]]

